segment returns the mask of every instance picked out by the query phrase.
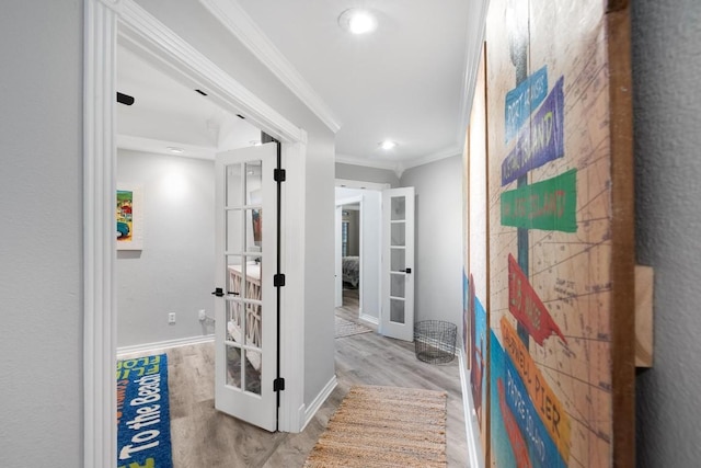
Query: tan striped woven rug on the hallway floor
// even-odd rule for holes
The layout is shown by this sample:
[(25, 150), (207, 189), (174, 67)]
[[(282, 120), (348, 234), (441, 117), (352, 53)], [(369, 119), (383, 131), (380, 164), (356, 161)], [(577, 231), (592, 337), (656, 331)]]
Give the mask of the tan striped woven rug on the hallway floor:
[(445, 468), (446, 401), (445, 391), (354, 386), (304, 468)]

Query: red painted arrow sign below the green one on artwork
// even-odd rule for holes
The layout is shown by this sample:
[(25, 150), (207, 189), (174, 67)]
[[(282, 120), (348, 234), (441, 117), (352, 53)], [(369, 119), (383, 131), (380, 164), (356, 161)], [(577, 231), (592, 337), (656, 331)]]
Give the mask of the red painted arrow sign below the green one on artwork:
[(556, 333), (565, 343), (567, 342), (510, 253), (508, 254), (508, 310), (541, 346), (543, 341), (553, 333)]

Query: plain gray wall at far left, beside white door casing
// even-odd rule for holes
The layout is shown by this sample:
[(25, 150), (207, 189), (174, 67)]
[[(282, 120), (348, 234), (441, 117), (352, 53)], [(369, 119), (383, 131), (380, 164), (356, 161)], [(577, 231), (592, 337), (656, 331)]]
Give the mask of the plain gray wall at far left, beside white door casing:
[(82, 466), (82, 1), (0, 13), (0, 465)]

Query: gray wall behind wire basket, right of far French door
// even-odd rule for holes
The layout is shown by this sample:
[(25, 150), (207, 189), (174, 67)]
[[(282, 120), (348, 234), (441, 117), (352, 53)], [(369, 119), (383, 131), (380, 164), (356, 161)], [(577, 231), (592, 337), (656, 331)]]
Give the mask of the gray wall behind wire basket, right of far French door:
[(416, 189), (415, 320), (462, 323), (462, 157), (406, 170)]

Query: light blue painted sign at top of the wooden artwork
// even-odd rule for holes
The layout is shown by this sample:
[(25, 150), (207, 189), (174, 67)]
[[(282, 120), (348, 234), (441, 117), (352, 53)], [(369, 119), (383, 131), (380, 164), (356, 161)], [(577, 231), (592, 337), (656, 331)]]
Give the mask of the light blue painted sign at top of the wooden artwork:
[(528, 77), (518, 87), (506, 93), (504, 115), (506, 118), (506, 142), (516, 136), (531, 112), (548, 95), (548, 66)]

